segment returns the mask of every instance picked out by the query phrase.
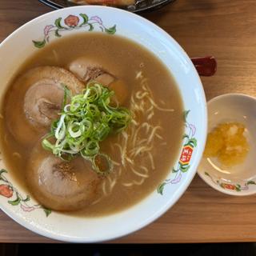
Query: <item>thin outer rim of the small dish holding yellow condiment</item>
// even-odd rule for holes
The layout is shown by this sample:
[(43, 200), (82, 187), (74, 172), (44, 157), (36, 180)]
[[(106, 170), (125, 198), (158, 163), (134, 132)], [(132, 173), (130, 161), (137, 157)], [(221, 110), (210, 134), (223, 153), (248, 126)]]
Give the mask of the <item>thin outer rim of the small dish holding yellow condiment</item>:
[[(253, 100), (256, 104), (256, 97), (254, 96), (251, 96), (251, 95), (248, 95), (248, 94), (239, 94), (239, 93), (228, 93), (228, 94), (221, 94), (221, 95), (218, 95), (214, 98), (211, 98), (210, 101), (207, 102), (207, 108), (208, 106), (210, 106), (210, 104), (212, 104), (213, 102), (218, 102), (219, 100), (223, 100), (225, 98), (245, 98), (246, 100), (250, 99), (250, 100)], [(209, 131), (207, 130), (207, 134), (209, 133)], [(217, 190), (223, 194), (229, 194), (229, 195), (232, 195), (232, 196), (239, 196), (239, 197), (243, 197), (243, 196), (249, 196), (249, 195), (252, 195), (252, 194), (256, 194), (256, 188), (255, 190), (250, 190), (250, 191), (242, 191), (241, 192), (238, 192), (236, 190), (225, 190), (223, 189), (221, 186), (218, 186), (217, 184), (215, 184), (211, 178), (207, 178), (206, 175), (204, 174), (204, 170), (200, 171), (199, 168), (198, 168), (198, 176), (200, 178), (202, 178), (202, 180), (204, 182), (206, 182), (206, 184), (208, 186), (210, 186), (211, 188), (213, 188), (214, 190)]]

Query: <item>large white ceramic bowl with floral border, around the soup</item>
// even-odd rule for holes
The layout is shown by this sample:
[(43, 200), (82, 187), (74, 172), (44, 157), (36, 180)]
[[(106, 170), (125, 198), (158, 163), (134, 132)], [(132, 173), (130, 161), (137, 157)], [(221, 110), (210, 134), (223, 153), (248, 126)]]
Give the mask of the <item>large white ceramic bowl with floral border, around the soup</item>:
[[(178, 158), (174, 166), (178, 172), (173, 173), (170, 168), (170, 174), (166, 181), (159, 184), (158, 190), (137, 205), (117, 214), (102, 218), (76, 218), (52, 212), (46, 218), (46, 213), (33, 198), (27, 202), (22, 201), (29, 192), (22, 190), (14, 182), (11, 172), (7, 170), (7, 173), (1, 173), (0, 205), (16, 222), (49, 238), (67, 242), (99, 242), (118, 238), (146, 226), (170, 209), (181, 197), (194, 177), (202, 157), (206, 141), (206, 100), (202, 83), (190, 58), (169, 34), (145, 18), (104, 6), (78, 6), (44, 14), (6, 38), (0, 46), (0, 60), (4, 63), (0, 70), (1, 97), (10, 78), (26, 58), (45, 44), (61, 40), (54, 36), (54, 30), (66, 26), (65, 19), (66, 24), (73, 27), (69, 30), (60, 29), (58, 33), (62, 37), (70, 33), (90, 33), (89, 23), (94, 22), (94, 30), (101, 31), (102, 27), (102, 33), (130, 38), (154, 52), (174, 74), (185, 110), (189, 110), (186, 112), (185, 122), (187, 136), (183, 141), (183, 145), (188, 145), (181, 145), (181, 162)], [(82, 22), (86, 23), (80, 26)], [(4, 159), (0, 164), (1, 168), (6, 169)], [(16, 191), (18, 194), (13, 193)], [(20, 199), (17, 199), (17, 195)]]

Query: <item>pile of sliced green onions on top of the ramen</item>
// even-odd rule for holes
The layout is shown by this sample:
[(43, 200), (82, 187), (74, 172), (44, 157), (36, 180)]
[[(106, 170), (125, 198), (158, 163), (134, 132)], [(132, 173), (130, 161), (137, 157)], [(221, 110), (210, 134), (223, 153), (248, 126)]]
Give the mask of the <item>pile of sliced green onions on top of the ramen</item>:
[[(113, 96), (113, 90), (98, 82), (89, 82), (82, 94), (74, 96), (65, 86), (62, 113), (52, 122), (42, 146), (67, 161), (81, 155), (98, 174), (109, 173), (113, 164), (109, 156), (100, 153), (99, 143), (109, 134), (120, 133), (131, 119), (129, 110), (110, 104)], [(68, 97), (70, 103), (66, 104)], [(104, 159), (107, 167), (102, 170)]]

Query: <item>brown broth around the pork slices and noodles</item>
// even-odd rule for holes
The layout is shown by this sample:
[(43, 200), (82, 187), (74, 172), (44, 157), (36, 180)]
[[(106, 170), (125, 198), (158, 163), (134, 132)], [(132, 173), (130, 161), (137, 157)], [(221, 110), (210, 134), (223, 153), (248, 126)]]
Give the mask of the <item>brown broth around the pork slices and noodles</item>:
[[(14, 79), (35, 66), (61, 66), (66, 68), (69, 62), (81, 56), (97, 60), (106, 70), (110, 70), (112, 74), (122, 78), (122, 81), (128, 85), (129, 98), (135, 90), (142, 86), (142, 81), (135, 79), (137, 72), (141, 70), (144, 78), (147, 78), (147, 86), (152, 91), (154, 101), (157, 102), (158, 106), (174, 109), (174, 112), (155, 110), (154, 117), (150, 119), (150, 125), (160, 125), (162, 127), (158, 134), (163, 138), (155, 139), (151, 150), (154, 158), (154, 170), (148, 159), (136, 158), (134, 166), (146, 166), (149, 169), (150, 177), (145, 178), (141, 185), (123, 186), (122, 183), (133, 181), (138, 176), (134, 175), (129, 167), (122, 167), (122, 174), (118, 177), (112, 193), (103, 197), (98, 203), (87, 206), (86, 209), (76, 213), (82, 216), (98, 216), (111, 214), (133, 206), (156, 190), (157, 186), (166, 178), (166, 175), (170, 172), (170, 167), (174, 165), (175, 159), (178, 158), (178, 152), (182, 146), (183, 106), (178, 86), (166, 66), (144, 47), (115, 35), (92, 32), (60, 38), (38, 50), (36, 54), (26, 60)], [(10, 94), (10, 91), (13, 90), (12, 86), (13, 83), (10, 84), (6, 92), (6, 98), (12, 97), (12, 101), (15, 101), (17, 100), (14, 98), (15, 95)], [(130, 107), (130, 102), (126, 102), (126, 107)], [(8, 111), (10, 111), (10, 107), (6, 107), (6, 102), (4, 102), (2, 105), (3, 120), (8, 118)], [(143, 118), (146, 120), (146, 116)], [(145, 120), (143, 120), (139, 121), (144, 122)], [(4, 134), (4, 136), (1, 136), (1, 146), (6, 159), (6, 166), (14, 174), (19, 184), (26, 187), (24, 177), (25, 172), (29, 171), (26, 170), (27, 161), (34, 145), (41, 138), (41, 134), (30, 145), (26, 145), (19, 144), (15, 140), (10, 134), (6, 122), (1, 122), (1, 133)], [(27, 136), (29, 137), (30, 134), (27, 134)], [(140, 136), (143, 136), (143, 133), (140, 133), (138, 137)], [(109, 154), (116, 162), (121, 162), (121, 158), (118, 155), (117, 148), (111, 149), (111, 145), (113, 146), (119, 139), (115, 135), (107, 138), (102, 143), (102, 151)], [(129, 143), (130, 141), (131, 139), (128, 140)], [(18, 158), (14, 152), (20, 154), (21, 158)], [(117, 171), (118, 168), (115, 167), (114, 172)], [(110, 178), (111, 175), (114, 174), (110, 174)], [(30, 191), (30, 193), (36, 194), (36, 191)]]

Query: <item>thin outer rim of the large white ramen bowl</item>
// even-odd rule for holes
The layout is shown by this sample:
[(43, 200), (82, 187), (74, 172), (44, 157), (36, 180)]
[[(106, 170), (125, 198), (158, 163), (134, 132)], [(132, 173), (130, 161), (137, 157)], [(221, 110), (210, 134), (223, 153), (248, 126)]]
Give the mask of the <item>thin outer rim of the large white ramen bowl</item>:
[(198, 150), (197, 150), (198, 151), (197, 152), (198, 157), (194, 159), (194, 168), (193, 168), (193, 170), (191, 168), (190, 174), (188, 174), (187, 177), (186, 177), (186, 181), (183, 182), (182, 186), (179, 186), (177, 188), (177, 190), (175, 191), (175, 194), (172, 197), (172, 200), (170, 200), (170, 199), (166, 200), (166, 202), (162, 203), (162, 207), (161, 207), (160, 210), (156, 211), (149, 218), (146, 218), (146, 220), (144, 222), (141, 222), (139, 225), (137, 225), (137, 226), (132, 226), (131, 225), (132, 227), (129, 230), (127, 230), (127, 229), (122, 230), (119, 233), (115, 232), (115, 234), (112, 235), (112, 236), (104, 237), (104, 238), (100, 238), (100, 239), (78, 238), (78, 237), (67, 236), (67, 235), (63, 235), (63, 234), (55, 234), (55, 233), (50, 232), (50, 230), (43, 230), (40, 226), (36, 226), (36, 225), (31, 224), (29, 222), (25, 222), (22, 218), (20, 218), (18, 216), (18, 214), (13, 214), (12, 212), (10, 212), (10, 210), (8, 210), (7, 207), (0, 205), (0, 208), (10, 218), (13, 218), (15, 222), (18, 222), (20, 225), (25, 226), (28, 230), (32, 230), (34, 233), (41, 234), (42, 236), (45, 236), (47, 238), (53, 238), (53, 239), (56, 239), (56, 240), (59, 240), (59, 241), (64, 241), (64, 242), (104, 242), (104, 241), (113, 240), (115, 238), (121, 238), (125, 235), (131, 234), (131, 233), (133, 233), (137, 230), (142, 229), (143, 227), (149, 225), (151, 222), (154, 222), (156, 219), (158, 219), (160, 216), (162, 216), (162, 214), (165, 214), (167, 210), (170, 210), (170, 208), (172, 206), (174, 206), (174, 204), (176, 202), (178, 202), (178, 199), (182, 197), (182, 194), (184, 194), (187, 187), (190, 186), (190, 182), (194, 178), (194, 175), (197, 172), (199, 162), (202, 158), (204, 146), (206, 144), (206, 135), (207, 135), (206, 96), (205, 96), (205, 93), (204, 93), (204, 90), (203, 90), (201, 79), (199, 78), (198, 72), (195, 70), (193, 63), (190, 61), (190, 58), (186, 54), (185, 50), (182, 49), (182, 47), (178, 44), (178, 42), (176, 42), (174, 40), (174, 38), (172, 38), (170, 36), (170, 34), (167, 34), (165, 30), (162, 30), (161, 27), (155, 25), (153, 22), (150, 22), (146, 18), (142, 18), (142, 17), (138, 16), (138, 14), (130, 13), (126, 10), (120, 10), (120, 9), (117, 9), (117, 8), (114, 8), (114, 7), (109, 7), (109, 6), (72, 6), (72, 7), (68, 7), (68, 8), (64, 8), (64, 9), (60, 9), (60, 10), (53, 10), (53, 11), (50, 11), (49, 13), (42, 14), (42, 15), (38, 16), (37, 18), (34, 18), (34, 19), (30, 20), (29, 22), (26, 22), (24, 25), (20, 26), (17, 30), (14, 30), (13, 33), (11, 33), (6, 39), (4, 39), (2, 41), (2, 43), (0, 44), (0, 47), (5, 45), (10, 40), (10, 38), (14, 37), (14, 34), (19, 33), (26, 26), (29, 26), (31, 23), (36, 22), (38, 20), (41, 20), (42, 18), (48, 18), (51, 15), (57, 14), (57, 13), (61, 14), (63, 11), (66, 11), (66, 10), (86, 10), (86, 9), (94, 9), (96, 11), (97, 10), (102, 10), (102, 9), (104, 9), (106, 11), (107, 10), (114, 10), (116, 12), (126, 14), (126, 15), (130, 16), (130, 18), (134, 18), (134, 19), (137, 19), (138, 21), (146, 22), (148, 24), (148, 26), (150, 26), (152, 28), (152, 30), (158, 30), (158, 31), (161, 32), (161, 34), (163, 34), (163, 36), (166, 36), (168, 38), (168, 40), (170, 42), (172, 42), (174, 44), (174, 46), (177, 47), (177, 49), (182, 53), (184, 58), (186, 58), (186, 61), (190, 64), (190, 67), (193, 70), (193, 73), (194, 73), (193, 76), (194, 76), (194, 78), (196, 78), (196, 80), (198, 82), (198, 88), (200, 88), (200, 97), (202, 97), (202, 102), (203, 102), (202, 111), (204, 113), (205, 119), (202, 119), (203, 134), (200, 134), (201, 145), (202, 146), (200, 148), (198, 148)]

